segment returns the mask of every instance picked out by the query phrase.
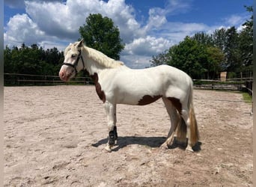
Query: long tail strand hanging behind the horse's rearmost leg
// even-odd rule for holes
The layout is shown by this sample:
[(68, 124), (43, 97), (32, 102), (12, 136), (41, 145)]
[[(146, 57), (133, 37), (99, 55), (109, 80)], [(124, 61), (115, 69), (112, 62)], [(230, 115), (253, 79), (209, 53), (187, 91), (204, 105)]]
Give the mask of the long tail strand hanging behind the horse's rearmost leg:
[(193, 82), (190, 84), (189, 93), (189, 121), (190, 121), (190, 144), (194, 146), (199, 140), (198, 123), (195, 119), (195, 111), (193, 106)]

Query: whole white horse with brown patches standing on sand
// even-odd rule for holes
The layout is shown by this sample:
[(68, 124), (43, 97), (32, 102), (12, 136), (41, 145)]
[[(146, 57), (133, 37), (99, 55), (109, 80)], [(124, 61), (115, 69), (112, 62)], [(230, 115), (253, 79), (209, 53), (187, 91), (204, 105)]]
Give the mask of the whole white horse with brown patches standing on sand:
[(192, 79), (186, 73), (166, 65), (132, 70), (83, 43), (81, 40), (67, 46), (59, 76), (67, 82), (85, 70), (94, 79), (107, 114), (109, 142), (106, 150), (110, 152), (118, 138), (117, 104), (147, 105), (162, 98), (171, 119), (171, 129), (161, 147), (171, 146), (177, 129), (177, 140), (186, 142), (187, 136), (186, 150), (193, 151), (199, 134), (192, 104)]

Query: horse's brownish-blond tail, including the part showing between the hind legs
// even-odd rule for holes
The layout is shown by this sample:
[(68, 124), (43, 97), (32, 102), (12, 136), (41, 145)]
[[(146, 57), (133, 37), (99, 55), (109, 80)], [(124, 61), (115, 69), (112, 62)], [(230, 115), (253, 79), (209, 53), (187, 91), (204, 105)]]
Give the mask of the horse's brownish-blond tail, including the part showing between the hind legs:
[[(188, 98), (189, 108), (189, 121), (190, 121), (190, 144), (194, 146), (199, 140), (198, 123), (195, 119), (195, 111), (192, 102), (193, 98), (193, 82), (191, 81)], [(180, 116), (180, 121), (177, 125), (177, 141), (180, 143), (186, 143), (186, 123)]]

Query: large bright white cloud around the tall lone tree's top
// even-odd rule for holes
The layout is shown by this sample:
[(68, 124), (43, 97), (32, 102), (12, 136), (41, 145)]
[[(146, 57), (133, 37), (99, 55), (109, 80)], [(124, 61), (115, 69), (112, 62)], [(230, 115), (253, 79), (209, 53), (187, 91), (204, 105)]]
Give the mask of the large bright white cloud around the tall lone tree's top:
[[(77, 40), (79, 27), (85, 24), (89, 13), (101, 13), (113, 19), (120, 28), (124, 42), (132, 40), (136, 34), (140, 35), (140, 25), (132, 15), (132, 7), (124, 0), (67, 0), (66, 4), (60, 2), (25, 1), (26, 12), (37, 22), (40, 29), (46, 34), (60, 38)], [(138, 32), (134, 32), (138, 30)], [(132, 32), (133, 31), (133, 32)], [(132, 34), (133, 33), (133, 34)]]

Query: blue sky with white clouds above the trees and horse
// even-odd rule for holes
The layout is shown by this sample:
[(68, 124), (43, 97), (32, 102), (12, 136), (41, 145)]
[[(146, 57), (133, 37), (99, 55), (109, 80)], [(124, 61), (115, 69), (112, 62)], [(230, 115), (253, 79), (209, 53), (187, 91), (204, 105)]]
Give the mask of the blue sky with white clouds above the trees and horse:
[(121, 61), (128, 67), (150, 66), (150, 59), (186, 36), (235, 26), (251, 16), (253, 0), (4, 0), (4, 46), (63, 50), (79, 36), (90, 13), (111, 18), (126, 44)]

